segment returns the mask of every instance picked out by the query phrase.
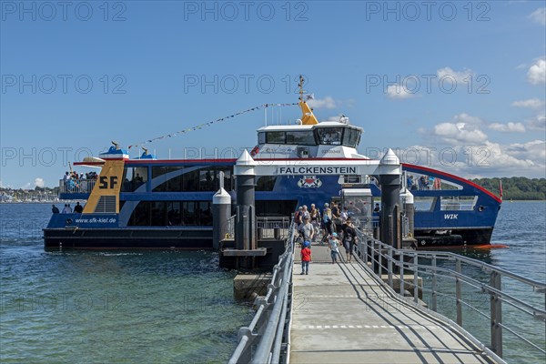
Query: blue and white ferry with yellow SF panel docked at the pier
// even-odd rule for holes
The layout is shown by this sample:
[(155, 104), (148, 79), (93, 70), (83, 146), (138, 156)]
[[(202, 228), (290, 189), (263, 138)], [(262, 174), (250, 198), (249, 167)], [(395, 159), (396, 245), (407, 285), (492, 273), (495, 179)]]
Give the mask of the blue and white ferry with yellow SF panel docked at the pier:
[[(368, 159), (357, 151), (362, 128), (349, 119), (319, 122), (300, 94), (302, 116), (288, 126), (258, 128), (257, 161), (301, 159), (331, 162)], [(75, 166), (101, 167), (96, 178), (61, 180), (60, 199), (86, 200), (83, 213), (53, 214), (44, 228), (45, 248), (211, 249), (212, 197), (223, 187), (235, 201), (235, 158), (157, 159), (145, 152), (131, 159), (115, 145)], [(415, 208), (417, 248), (488, 245), (501, 198), (449, 173), (402, 164), (403, 189)], [(259, 216), (289, 217), (298, 207), (341, 202), (349, 214), (369, 217), (380, 202), (373, 177), (350, 174), (257, 176)], [(361, 191), (362, 196), (351, 191)], [(348, 196), (347, 200), (343, 197)], [(349, 201), (349, 196), (357, 196)], [(377, 220), (375, 222), (377, 224)]]

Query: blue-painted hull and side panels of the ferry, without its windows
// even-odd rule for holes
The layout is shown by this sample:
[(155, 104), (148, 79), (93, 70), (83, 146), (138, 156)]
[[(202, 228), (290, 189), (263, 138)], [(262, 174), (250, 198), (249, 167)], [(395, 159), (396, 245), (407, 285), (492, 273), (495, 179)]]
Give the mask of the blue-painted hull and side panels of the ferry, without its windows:
[[(163, 206), (163, 217), (167, 214), (168, 204), (185, 203), (209, 204), (217, 186), (209, 184), (210, 191), (155, 191), (159, 183), (154, 182), (152, 167), (184, 167), (180, 175), (199, 168), (232, 168), (235, 160), (187, 160), (187, 161), (146, 161), (130, 160), (127, 167), (147, 168), (147, 178), (142, 186), (133, 192), (121, 192), (119, 197), (123, 207), (119, 214), (82, 215), (54, 214), (44, 229), (45, 248), (179, 248), (207, 249), (212, 248), (211, 219), (183, 221), (180, 219), (170, 226), (131, 226), (135, 224), (135, 210), (139, 203), (151, 204), (146, 210), (148, 224), (154, 223), (153, 204)], [(459, 186), (455, 189), (417, 189), (412, 190), (416, 199), (414, 220), (415, 238), (418, 248), (484, 245), (490, 244), (490, 237), (501, 207), (501, 199), (489, 191), (468, 180), (456, 177), (427, 167), (403, 165), (407, 174), (415, 173), (441, 178)], [(179, 176), (178, 176), (179, 177)], [(175, 177), (173, 177), (175, 178)], [(174, 179), (173, 179), (174, 180)], [(162, 183), (167, 183), (163, 177)], [(207, 182), (208, 183), (208, 182)], [(203, 182), (205, 184), (205, 182)], [(214, 185), (214, 186), (213, 186)], [(275, 177), (264, 182), (257, 181), (256, 206), (258, 215), (289, 216), (298, 206), (315, 204), (322, 207), (324, 203), (339, 198), (341, 189), (339, 176), (294, 176)], [(345, 187), (347, 188), (347, 187)], [(379, 200), (380, 190), (370, 185), (372, 195)], [(228, 188), (229, 190), (230, 188)], [(235, 192), (229, 190), (235, 200)], [(86, 199), (88, 193), (66, 191), (61, 194), (65, 199)], [(445, 203), (447, 198), (473, 197), (471, 209), (452, 209)], [(425, 201), (429, 205), (421, 209), (417, 202)], [(163, 205), (161, 205), (163, 204)], [(197, 207), (196, 207), (197, 208)], [(197, 209), (196, 209), (197, 211)], [(199, 213), (203, 213), (202, 210)], [(200, 226), (192, 222), (201, 222)], [(206, 226), (203, 226), (203, 223)]]

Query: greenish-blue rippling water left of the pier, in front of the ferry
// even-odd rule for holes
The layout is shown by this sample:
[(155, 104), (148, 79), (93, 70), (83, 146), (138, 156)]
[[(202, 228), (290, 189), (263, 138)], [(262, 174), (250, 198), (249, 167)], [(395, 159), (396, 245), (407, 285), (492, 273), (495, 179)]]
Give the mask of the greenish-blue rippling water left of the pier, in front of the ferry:
[(217, 254), (51, 251), (50, 206), (0, 205), (0, 362), (225, 362), (253, 312)]

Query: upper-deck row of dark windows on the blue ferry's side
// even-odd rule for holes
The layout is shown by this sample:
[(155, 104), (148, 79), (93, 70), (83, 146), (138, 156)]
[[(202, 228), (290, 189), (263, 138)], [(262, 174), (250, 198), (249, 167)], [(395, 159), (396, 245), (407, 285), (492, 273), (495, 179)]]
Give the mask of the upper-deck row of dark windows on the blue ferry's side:
[[(177, 173), (183, 172), (184, 168), (151, 167), (151, 178), (154, 179), (167, 174), (177, 175)], [(235, 177), (232, 174), (231, 167), (202, 167), (174, 177), (171, 177), (172, 175), (166, 176), (166, 180), (153, 187), (152, 192), (216, 192), (220, 187), (220, 172), (224, 173), (224, 189), (227, 191), (233, 190), (235, 188)], [(142, 192), (146, 192), (148, 167), (126, 167), (123, 180), (121, 192), (135, 192), (139, 188)], [(272, 176), (257, 177), (256, 190), (272, 191), (276, 180), (277, 177)], [(144, 190), (142, 190), (143, 186), (145, 186)]]

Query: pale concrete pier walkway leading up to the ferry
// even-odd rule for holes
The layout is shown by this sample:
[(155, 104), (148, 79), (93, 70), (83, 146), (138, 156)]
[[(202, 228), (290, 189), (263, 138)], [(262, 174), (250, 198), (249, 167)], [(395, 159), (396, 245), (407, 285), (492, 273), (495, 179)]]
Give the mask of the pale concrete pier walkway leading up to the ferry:
[[(331, 264), (313, 245), (309, 274), (295, 248), (291, 363), (493, 363), (448, 323), (392, 295), (357, 261)], [(343, 249), (342, 249), (343, 250)]]

